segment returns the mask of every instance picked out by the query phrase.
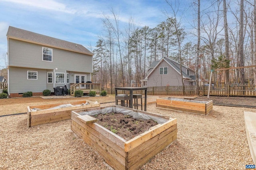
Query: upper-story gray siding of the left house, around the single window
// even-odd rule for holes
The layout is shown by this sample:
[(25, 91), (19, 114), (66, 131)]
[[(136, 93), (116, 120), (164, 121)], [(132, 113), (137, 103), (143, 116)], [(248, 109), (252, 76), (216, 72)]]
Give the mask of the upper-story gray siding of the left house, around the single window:
[[(33, 67), (41, 69), (68, 70), (73, 72), (92, 72), (92, 56), (48, 46), (8, 40), (9, 66)], [(52, 49), (52, 62), (42, 61), (42, 47)]]

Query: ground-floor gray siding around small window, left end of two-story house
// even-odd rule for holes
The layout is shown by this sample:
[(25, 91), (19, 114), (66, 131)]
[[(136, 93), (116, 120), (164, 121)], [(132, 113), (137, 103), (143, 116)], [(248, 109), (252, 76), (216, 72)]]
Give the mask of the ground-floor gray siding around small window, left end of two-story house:
[[(27, 74), (29, 71), (37, 71), (37, 80), (28, 80)], [(24, 93), (24, 92), (43, 92), (46, 89), (47, 70), (35, 68), (9, 68), (10, 93)]]

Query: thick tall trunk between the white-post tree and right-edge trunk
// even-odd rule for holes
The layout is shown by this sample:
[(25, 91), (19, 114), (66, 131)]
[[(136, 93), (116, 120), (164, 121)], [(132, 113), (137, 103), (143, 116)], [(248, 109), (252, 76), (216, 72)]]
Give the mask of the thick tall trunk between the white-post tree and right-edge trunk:
[[(244, 66), (244, 0), (240, 0), (238, 59), (238, 66)], [(240, 68), (240, 83), (244, 84), (244, 68)]]

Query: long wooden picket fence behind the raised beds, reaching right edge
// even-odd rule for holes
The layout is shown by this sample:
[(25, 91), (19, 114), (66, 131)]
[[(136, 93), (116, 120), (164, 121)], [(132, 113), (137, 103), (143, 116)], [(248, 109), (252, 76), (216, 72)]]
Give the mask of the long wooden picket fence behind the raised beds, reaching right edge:
[[(199, 95), (207, 96), (209, 86), (199, 86)], [(115, 90), (106, 90), (108, 94), (114, 94)], [(128, 94), (118, 90), (118, 94)], [(144, 94), (143, 91), (136, 91), (134, 94)], [(148, 95), (157, 96), (182, 96), (182, 86), (156, 86), (148, 87)], [(196, 96), (196, 86), (184, 86), (184, 96)], [(230, 84), (223, 86), (210, 86), (210, 96), (256, 96), (256, 88), (249, 84)]]

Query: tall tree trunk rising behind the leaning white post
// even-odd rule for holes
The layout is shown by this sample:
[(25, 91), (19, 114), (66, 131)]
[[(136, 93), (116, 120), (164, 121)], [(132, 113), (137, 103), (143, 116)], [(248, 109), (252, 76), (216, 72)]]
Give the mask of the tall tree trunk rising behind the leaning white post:
[[(224, 32), (225, 32), (225, 58), (226, 67), (229, 68), (229, 47), (228, 47), (228, 21), (227, 21), (227, 6), (226, 0), (223, 0), (223, 17), (224, 17)], [(229, 70), (225, 71), (226, 74), (226, 84), (229, 84)]]

